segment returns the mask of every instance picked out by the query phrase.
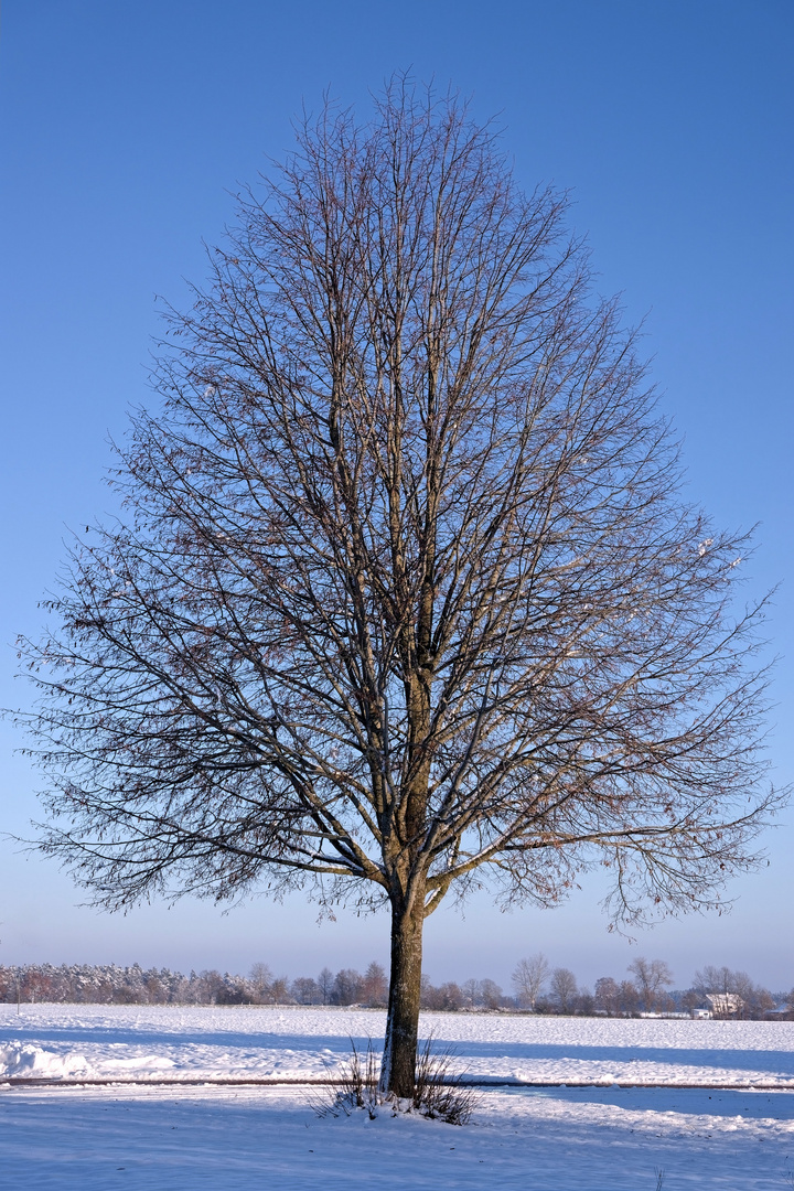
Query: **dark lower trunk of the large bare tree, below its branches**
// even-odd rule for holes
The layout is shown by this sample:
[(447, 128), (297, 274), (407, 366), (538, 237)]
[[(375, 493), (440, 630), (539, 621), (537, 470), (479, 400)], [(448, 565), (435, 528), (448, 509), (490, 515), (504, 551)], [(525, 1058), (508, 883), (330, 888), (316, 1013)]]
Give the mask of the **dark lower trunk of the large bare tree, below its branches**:
[(392, 906), (392, 972), (381, 1091), (405, 1099), (413, 1096), (417, 1068), (423, 911), (424, 898), (418, 898), (411, 911)]

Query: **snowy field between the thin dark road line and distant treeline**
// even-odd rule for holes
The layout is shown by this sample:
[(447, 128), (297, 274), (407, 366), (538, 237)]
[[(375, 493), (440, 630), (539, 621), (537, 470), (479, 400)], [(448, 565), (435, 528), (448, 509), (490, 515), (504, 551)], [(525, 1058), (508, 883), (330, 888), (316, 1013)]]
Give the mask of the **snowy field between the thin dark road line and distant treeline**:
[[(0, 1005), (0, 1079), (311, 1079), (368, 1037), (365, 1009)], [(794, 1022), (423, 1014), (477, 1079), (794, 1087)]]

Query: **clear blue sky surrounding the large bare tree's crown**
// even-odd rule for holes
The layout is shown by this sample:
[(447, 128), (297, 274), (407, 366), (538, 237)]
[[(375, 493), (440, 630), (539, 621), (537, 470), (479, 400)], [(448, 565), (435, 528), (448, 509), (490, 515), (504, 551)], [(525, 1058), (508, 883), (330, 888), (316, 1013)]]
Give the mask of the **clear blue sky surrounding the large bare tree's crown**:
[[(325, 88), (365, 106), (395, 69), (452, 82), (499, 113), (518, 177), (571, 191), (606, 293), (643, 317), (689, 494), (726, 525), (759, 523), (749, 594), (782, 582), (770, 752), (793, 775), (792, 0), (6, 0), (0, 30), (2, 436), (0, 642), (35, 634), (67, 526), (101, 516), (108, 436), (146, 400), (155, 294), (180, 305), (223, 236), (230, 191), (292, 144)], [(15, 656), (0, 703), (25, 703)], [(0, 830), (24, 834), (36, 778), (0, 725)], [(704, 962), (794, 985), (794, 811), (732, 915), (673, 922), (633, 950), (586, 884), (557, 911), (430, 919), (433, 979), (508, 983), (536, 949), (592, 983), (632, 955), (686, 985)], [(48, 861), (0, 841), (0, 962), (50, 960), (296, 975), (385, 959), (382, 918), (318, 927), (295, 898), (223, 917), (206, 904), (126, 918), (79, 909)]]

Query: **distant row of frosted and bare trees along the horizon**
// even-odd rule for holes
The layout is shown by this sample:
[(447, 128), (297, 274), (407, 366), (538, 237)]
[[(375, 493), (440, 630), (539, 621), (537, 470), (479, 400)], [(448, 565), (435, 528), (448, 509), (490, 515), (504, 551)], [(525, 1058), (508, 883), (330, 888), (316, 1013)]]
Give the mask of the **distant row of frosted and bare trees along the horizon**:
[[(490, 979), (433, 985), (423, 978), (421, 1006), (448, 1011), (523, 1011), (582, 1016), (634, 1017), (640, 1014), (790, 1018), (794, 990), (769, 992), (745, 972), (707, 966), (689, 989), (669, 991), (673, 974), (663, 960), (636, 959), (630, 979), (601, 977), (594, 990), (579, 985), (569, 968), (552, 968), (537, 953), (518, 962), (513, 996)], [(363, 1005), (387, 1003), (388, 979), (373, 961), (362, 974), (355, 968), (318, 977), (274, 975), (255, 964), (249, 975), (207, 969), (185, 975), (170, 968), (120, 967), (115, 964), (25, 964), (0, 967), (0, 1003), (56, 1002), (105, 1005)]]

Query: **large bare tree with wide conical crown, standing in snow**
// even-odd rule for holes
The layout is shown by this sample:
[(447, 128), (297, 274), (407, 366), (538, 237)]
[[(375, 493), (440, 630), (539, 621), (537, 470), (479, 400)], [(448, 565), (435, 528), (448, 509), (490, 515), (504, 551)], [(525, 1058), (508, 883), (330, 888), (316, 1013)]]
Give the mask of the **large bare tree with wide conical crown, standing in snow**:
[(412, 1095), (423, 923), (455, 888), (713, 904), (754, 861), (745, 538), (679, 494), (564, 199), (396, 80), (326, 106), (170, 314), (161, 412), (29, 646), (44, 847), (99, 904), (392, 915), (383, 1086)]

